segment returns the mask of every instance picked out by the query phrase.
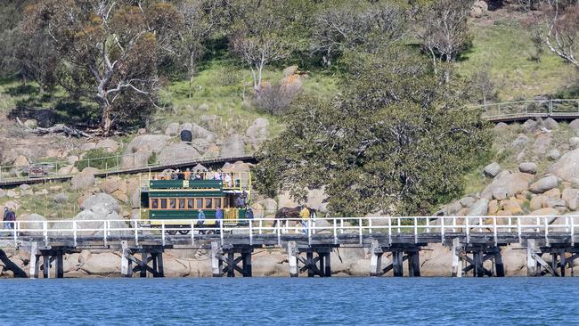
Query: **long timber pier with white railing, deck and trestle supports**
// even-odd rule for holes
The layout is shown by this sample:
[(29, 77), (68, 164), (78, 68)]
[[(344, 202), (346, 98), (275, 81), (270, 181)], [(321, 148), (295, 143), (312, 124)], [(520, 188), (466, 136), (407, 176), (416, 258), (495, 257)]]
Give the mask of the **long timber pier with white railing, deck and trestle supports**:
[[(306, 227), (296, 220), (294, 226), (284, 228), (270, 226), (273, 218), (257, 218), (244, 227), (214, 224), (202, 229), (192, 220), (189, 234), (174, 235), (167, 233), (173, 231), (171, 220), (159, 228), (138, 220), (62, 220), (50, 222), (51, 227), (47, 222), (16, 222), (16, 232), (2, 233), (0, 248), (28, 249), (32, 278), (39, 277), (40, 270), (48, 278), (51, 269), (55, 277), (63, 277), (65, 255), (84, 249), (119, 252), (121, 274), (126, 277), (163, 277), (167, 249), (210, 251), (214, 277), (250, 277), (255, 249), (284, 249), (288, 276), (330, 277), (330, 254), (340, 248), (367, 249), (370, 276), (391, 272), (396, 277), (418, 277), (420, 252), (429, 244), (442, 243), (453, 253), (447, 262), (453, 276), (502, 277), (502, 249), (519, 244), (526, 249), (528, 276), (566, 276), (566, 269), (579, 257), (575, 244), (579, 216), (559, 219), (553, 223), (552, 216), (317, 218), (308, 220)], [(389, 257), (386, 263), (385, 256)]]

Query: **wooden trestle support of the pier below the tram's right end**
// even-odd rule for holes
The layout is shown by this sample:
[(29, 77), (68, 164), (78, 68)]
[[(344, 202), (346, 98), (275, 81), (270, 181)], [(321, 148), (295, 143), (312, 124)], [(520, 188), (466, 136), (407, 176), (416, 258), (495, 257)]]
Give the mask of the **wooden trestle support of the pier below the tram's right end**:
[[(211, 269), (213, 277), (235, 277), (235, 272), (243, 277), (251, 277), (252, 246), (225, 245), (219, 247), (217, 242), (211, 242)], [(237, 256), (237, 257), (235, 257)], [(240, 266), (241, 264), (241, 266)]]

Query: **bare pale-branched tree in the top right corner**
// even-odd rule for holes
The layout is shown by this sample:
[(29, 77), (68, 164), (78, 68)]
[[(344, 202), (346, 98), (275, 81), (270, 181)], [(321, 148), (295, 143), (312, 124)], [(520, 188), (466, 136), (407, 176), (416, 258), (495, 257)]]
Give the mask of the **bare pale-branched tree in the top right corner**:
[(579, 3), (542, 0), (534, 20), (536, 41), (579, 69)]

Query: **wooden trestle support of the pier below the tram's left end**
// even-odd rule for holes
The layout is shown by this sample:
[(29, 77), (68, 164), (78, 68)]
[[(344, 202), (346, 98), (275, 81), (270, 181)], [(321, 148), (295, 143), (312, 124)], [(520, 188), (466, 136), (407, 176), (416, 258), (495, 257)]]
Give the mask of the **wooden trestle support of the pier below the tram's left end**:
[[(140, 277), (147, 277), (147, 272), (149, 272), (152, 277), (165, 277), (162, 246), (129, 248), (126, 241), (121, 241), (121, 246), (120, 273), (123, 276), (133, 277), (133, 273), (138, 272)], [(141, 254), (141, 259), (135, 257), (137, 253)], [(134, 263), (135, 267), (133, 267)]]

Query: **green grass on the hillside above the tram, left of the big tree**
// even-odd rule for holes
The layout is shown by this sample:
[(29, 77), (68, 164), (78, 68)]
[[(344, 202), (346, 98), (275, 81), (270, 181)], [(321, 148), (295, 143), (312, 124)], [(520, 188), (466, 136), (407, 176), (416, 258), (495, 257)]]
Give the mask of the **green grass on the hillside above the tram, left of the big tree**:
[[(281, 68), (264, 71), (265, 83), (278, 83), (282, 78)], [(169, 122), (195, 122), (210, 126), (217, 134), (242, 133), (256, 118), (262, 117), (270, 120), (270, 135), (279, 134), (283, 129), (282, 118), (257, 110), (251, 102), (252, 85), (249, 69), (231, 61), (209, 62), (194, 78), (192, 97), (189, 97), (189, 81), (175, 81), (161, 93), (166, 109), (157, 112), (154, 127), (163, 130)], [(338, 93), (338, 77), (315, 71), (306, 77), (303, 86), (306, 93), (330, 98)], [(203, 116), (216, 116), (216, 119), (203, 122)]]

